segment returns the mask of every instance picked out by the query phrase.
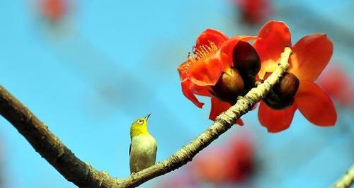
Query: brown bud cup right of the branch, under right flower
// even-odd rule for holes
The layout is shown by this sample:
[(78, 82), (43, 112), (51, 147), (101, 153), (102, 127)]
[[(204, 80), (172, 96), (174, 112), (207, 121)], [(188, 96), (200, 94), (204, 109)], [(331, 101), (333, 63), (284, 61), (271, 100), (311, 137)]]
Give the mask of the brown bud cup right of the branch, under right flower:
[[(264, 78), (268, 78), (270, 73), (265, 73)], [(264, 99), (269, 107), (282, 109), (294, 103), (294, 97), (299, 88), (299, 79), (290, 72), (285, 72), (279, 80), (279, 83), (270, 90), (270, 93)]]

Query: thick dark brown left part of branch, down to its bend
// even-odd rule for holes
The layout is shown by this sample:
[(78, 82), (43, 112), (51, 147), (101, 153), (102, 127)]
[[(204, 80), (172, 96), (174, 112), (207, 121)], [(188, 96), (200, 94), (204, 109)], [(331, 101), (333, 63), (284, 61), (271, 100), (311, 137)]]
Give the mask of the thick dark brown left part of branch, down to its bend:
[(76, 158), (74, 153), (49, 131), (47, 125), (40, 122), (2, 86), (0, 86), (0, 114), (16, 127), (42, 158), (70, 182), (79, 187), (100, 187), (100, 184), (103, 184), (102, 187), (113, 187), (114, 179)]

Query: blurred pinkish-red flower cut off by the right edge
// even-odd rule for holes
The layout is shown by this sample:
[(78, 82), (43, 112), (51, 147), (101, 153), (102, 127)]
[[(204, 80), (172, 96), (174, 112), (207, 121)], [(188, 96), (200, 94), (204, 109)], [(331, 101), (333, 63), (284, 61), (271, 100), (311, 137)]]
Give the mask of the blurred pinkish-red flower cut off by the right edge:
[(333, 100), (336, 100), (339, 105), (353, 107), (353, 83), (351, 83), (348, 74), (341, 66), (333, 65), (324, 69), (324, 72), (319, 76), (316, 83), (318, 83)]

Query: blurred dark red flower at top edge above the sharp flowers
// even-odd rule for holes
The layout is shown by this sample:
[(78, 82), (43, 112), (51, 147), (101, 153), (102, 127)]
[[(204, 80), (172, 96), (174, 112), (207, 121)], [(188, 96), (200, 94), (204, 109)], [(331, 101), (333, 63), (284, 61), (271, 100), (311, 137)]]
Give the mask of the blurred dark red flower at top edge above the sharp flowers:
[(251, 25), (261, 23), (271, 13), (269, 0), (234, 0), (241, 11), (241, 19)]

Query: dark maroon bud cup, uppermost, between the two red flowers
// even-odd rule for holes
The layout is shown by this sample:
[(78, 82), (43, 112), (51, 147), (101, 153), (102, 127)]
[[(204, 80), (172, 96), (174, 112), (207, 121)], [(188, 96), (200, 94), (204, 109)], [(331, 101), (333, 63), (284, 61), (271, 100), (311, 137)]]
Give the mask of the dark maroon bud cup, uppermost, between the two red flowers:
[(261, 69), (261, 59), (256, 49), (249, 42), (239, 41), (234, 47), (232, 55), (234, 67), (240, 71), (243, 76), (256, 76)]

